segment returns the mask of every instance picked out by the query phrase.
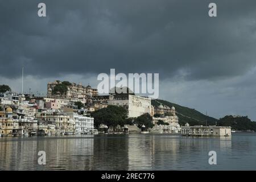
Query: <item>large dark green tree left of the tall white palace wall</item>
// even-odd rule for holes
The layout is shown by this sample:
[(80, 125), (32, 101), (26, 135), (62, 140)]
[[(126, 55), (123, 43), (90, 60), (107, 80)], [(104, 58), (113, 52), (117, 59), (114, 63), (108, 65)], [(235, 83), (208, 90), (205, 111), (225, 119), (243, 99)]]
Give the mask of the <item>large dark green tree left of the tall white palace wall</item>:
[(117, 125), (123, 126), (125, 124), (128, 117), (127, 115), (128, 113), (125, 108), (112, 105), (92, 113), (94, 125), (96, 127), (100, 126), (101, 124), (105, 124), (108, 127), (114, 127), (114, 129)]

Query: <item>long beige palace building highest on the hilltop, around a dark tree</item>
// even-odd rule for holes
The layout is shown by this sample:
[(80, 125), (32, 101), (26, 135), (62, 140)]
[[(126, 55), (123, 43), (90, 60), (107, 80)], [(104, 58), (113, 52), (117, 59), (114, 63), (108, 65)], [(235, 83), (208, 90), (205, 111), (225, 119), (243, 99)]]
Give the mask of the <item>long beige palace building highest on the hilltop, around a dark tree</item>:
[(66, 93), (60, 95), (60, 94), (53, 94), (52, 90), (54, 87), (58, 84), (61, 84), (61, 81), (53, 81), (53, 82), (48, 82), (47, 84), (47, 97), (55, 97), (55, 96), (61, 96), (65, 97), (67, 99), (70, 98), (80, 98), (83, 99), (85, 98), (90, 98), (92, 96), (97, 96), (98, 95), (98, 90), (92, 88), (90, 85), (88, 86), (83, 86), (81, 84), (76, 84), (76, 83), (71, 83), (70, 85), (67, 85), (68, 90)]

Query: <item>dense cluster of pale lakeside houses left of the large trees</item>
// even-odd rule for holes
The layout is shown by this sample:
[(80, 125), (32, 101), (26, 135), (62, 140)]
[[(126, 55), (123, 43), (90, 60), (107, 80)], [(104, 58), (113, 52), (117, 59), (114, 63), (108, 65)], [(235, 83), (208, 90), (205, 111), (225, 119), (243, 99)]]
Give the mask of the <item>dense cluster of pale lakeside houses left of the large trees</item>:
[[(13, 100), (7, 100), (13, 96)], [(18, 98), (18, 100), (16, 100)], [(8, 102), (2, 105), (2, 102)], [(44, 103), (44, 104), (43, 104)], [(43, 104), (43, 105), (42, 105)], [(61, 102), (60, 102), (61, 104)], [(93, 134), (94, 119), (80, 110), (73, 111), (72, 105), (58, 109), (48, 109), (47, 98), (44, 100), (26, 100), (23, 94), (7, 93), (1, 97), (0, 135), (65, 135)]]

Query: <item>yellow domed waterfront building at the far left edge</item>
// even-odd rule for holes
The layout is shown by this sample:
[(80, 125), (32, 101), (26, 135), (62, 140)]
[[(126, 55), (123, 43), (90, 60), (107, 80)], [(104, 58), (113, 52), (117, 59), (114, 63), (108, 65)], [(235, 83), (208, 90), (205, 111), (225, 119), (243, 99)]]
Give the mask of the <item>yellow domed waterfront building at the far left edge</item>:
[(13, 109), (8, 107), (5, 112), (0, 113), (0, 132), (2, 136), (13, 135)]

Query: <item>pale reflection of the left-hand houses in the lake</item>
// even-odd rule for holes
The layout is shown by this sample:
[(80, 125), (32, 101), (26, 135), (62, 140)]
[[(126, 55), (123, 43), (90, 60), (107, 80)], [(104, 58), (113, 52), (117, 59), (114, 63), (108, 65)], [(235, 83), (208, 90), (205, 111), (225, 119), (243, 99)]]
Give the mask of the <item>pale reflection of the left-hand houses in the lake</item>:
[[(32, 137), (0, 140), (1, 170), (90, 170), (93, 137)], [(46, 165), (38, 164), (38, 151), (46, 152)]]

